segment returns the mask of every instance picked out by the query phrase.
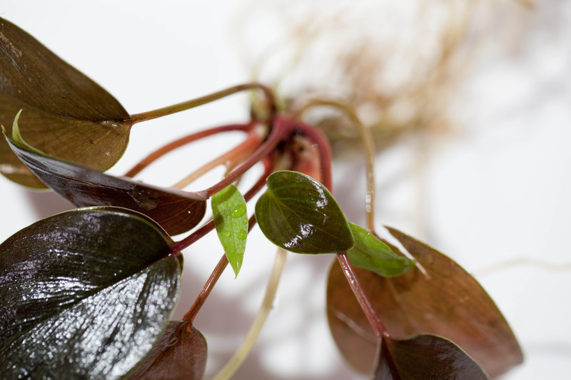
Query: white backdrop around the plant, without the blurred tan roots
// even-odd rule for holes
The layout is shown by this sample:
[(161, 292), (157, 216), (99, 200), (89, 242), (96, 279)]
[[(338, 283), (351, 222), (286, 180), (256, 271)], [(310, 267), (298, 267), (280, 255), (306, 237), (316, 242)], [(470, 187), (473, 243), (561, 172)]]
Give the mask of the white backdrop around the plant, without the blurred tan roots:
[[(288, 3), (267, 4), (279, 14)], [(256, 45), (277, 28), (260, 22), (241, 35), (236, 20), (259, 5), (4, 0), (0, 16), (100, 83), (128, 112), (138, 113), (248, 81), (252, 60), (237, 41)], [(453, 257), (495, 299), (525, 352), (525, 364), (504, 379), (565, 379), (571, 371), (571, 3), (535, 1), (534, 9), (522, 13), (517, 43), (497, 43), (467, 79), (455, 103), (455, 133), (412, 137), (380, 155), (377, 218), (378, 226), (398, 227)], [(506, 21), (519, 16), (504, 15)], [(246, 120), (247, 101), (233, 96), (136, 125), (126, 155), (111, 172), (124, 173), (177, 136)], [(151, 168), (144, 179), (174, 183), (205, 157), (221, 153), (223, 144), (229, 148), (234, 142), (193, 145)], [(422, 150), (420, 179), (419, 146), (428, 146)], [(358, 163), (338, 163), (335, 193), (349, 217), (362, 222)], [(2, 241), (70, 207), (51, 193), (29, 192), (4, 178), (0, 194)], [(274, 249), (259, 235), (255, 230), (248, 242), (238, 279), (225, 272), (196, 319), (209, 345), (207, 377), (241, 343), (261, 302)], [(193, 302), (222, 250), (208, 237), (185, 253), (175, 317)], [(343, 366), (328, 336), (329, 262), (330, 257), (288, 257), (276, 309), (237, 379), (358, 378)]]

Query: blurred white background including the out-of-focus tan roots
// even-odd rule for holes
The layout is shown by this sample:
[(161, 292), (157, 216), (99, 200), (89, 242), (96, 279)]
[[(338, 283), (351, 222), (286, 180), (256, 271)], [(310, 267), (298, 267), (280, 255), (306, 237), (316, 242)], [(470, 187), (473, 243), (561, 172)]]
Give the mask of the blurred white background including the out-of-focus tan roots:
[[(453, 258), (490, 293), (525, 354), (506, 380), (571, 370), (571, 2), (4, 0), (0, 16), (106, 88), (130, 113), (257, 80), (285, 107), (348, 101), (375, 135), (379, 232), (397, 227)], [(133, 128), (111, 173), (196, 130), (248, 119), (231, 96)], [(333, 142), (334, 191), (363, 224), (365, 173), (353, 130), (325, 110), (307, 120)], [(238, 135), (177, 150), (141, 180), (168, 186)], [(215, 171), (191, 190), (220, 178)], [(0, 178), (0, 237), (71, 208)], [(253, 207), (248, 207), (252, 212)], [(212, 234), (211, 234), (212, 235)], [(388, 234), (385, 234), (385, 236)], [(198, 314), (206, 378), (241, 344), (275, 249), (248, 238), (237, 279), (224, 273)], [(223, 251), (215, 236), (185, 251), (192, 304)], [(331, 257), (288, 256), (276, 308), (236, 379), (361, 379), (325, 319)]]

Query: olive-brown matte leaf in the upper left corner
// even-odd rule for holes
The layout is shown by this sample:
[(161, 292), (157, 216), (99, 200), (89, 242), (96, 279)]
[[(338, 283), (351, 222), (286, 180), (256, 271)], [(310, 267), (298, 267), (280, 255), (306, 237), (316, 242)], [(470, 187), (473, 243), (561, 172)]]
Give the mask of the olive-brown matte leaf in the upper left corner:
[[(132, 122), (118, 101), (34, 37), (0, 19), (0, 125), (21, 131), (35, 148), (107, 170), (126, 149)], [(22, 185), (44, 184), (0, 142), (0, 173)]]

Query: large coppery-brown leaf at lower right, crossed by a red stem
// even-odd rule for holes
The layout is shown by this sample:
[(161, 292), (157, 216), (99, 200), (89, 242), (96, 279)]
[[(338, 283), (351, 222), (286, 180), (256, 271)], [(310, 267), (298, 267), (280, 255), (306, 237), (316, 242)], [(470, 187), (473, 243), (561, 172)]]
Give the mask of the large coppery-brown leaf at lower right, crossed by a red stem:
[[(436, 334), (468, 352), (490, 376), (522, 362), (522, 351), (499, 309), (478, 282), (453, 260), (428, 245), (389, 229), (418, 267), (399, 277), (355, 268), (365, 292), (393, 337)], [(395, 252), (398, 250), (393, 247)], [(339, 265), (328, 280), (328, 319), (339, 349), (358, 371), (369, 373), (376, 339)]]

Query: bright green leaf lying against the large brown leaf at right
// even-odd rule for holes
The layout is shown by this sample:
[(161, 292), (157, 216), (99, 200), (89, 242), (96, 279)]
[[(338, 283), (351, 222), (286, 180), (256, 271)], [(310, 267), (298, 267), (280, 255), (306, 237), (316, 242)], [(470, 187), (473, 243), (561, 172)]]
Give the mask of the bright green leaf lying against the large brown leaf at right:
[(385, 277), (398, 276), (414, 267), (408, 257), (395, 254), (378, 237), (353, 223), (349, 223), (355, 246), (348, 250), (349, 260), (355, 267), (372, 270)]

